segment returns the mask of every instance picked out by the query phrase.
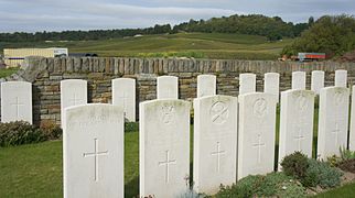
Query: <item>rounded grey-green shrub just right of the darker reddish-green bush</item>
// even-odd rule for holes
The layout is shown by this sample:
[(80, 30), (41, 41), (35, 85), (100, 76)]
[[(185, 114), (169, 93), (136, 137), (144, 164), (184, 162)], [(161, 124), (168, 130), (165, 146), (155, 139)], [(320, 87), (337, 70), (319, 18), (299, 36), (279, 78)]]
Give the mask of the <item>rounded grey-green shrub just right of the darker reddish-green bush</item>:
[(341, 184), (343, 173), (334, 168), (326, 162), (314, 158), (308, 160), (309, 167), (305, 175), (300, 179), (305, 187), (321, 186), (322, 188), (333, 188)]

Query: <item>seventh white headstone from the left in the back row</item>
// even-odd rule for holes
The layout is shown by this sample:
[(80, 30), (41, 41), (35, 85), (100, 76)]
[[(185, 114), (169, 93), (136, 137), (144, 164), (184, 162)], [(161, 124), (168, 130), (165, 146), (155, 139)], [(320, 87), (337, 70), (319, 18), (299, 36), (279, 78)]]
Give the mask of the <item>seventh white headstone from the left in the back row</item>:
[(267, 73), (267, 74), (265, 74), (263, 92), (275, 95), (277, 101), (279, 101), (280, 74), (278, 74), (278, 73)]

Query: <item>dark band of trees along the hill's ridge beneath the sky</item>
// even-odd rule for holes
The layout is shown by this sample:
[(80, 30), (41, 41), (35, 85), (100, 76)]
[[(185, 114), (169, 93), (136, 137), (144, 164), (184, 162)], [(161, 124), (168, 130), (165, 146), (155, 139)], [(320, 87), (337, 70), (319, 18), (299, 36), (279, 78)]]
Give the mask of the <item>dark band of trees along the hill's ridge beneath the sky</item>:
[(90, 30), (90, 31), (63, 31), (63, 32), (14, 32), (0, 33), (2, 42), (40, 42), (40, 41), (88, 41), (108, 40), (133, 36), (137, 34), (165, 34), (178, 32), (202, 33), (239, 33), (267, 36), (270, 41), (286, 37), (295, 37), (309, 28), (309, 23), (284, 22), (279, 16), (265, 16), (260, 14), (230, 15), (212, 18), (209, 20), (190, 20), (171, 26), (170, 24), (155, 24), (147, 29), (120, 29), (120, 30)]

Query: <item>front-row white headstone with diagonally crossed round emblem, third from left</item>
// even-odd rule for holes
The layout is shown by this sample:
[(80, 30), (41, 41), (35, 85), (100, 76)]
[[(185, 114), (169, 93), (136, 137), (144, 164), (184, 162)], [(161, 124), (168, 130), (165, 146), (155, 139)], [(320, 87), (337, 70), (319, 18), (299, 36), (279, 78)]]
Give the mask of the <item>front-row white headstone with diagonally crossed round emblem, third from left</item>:
[(194, 100), (194, 188), (214, 195), (237, 175), (237, 106), (230, 96)]

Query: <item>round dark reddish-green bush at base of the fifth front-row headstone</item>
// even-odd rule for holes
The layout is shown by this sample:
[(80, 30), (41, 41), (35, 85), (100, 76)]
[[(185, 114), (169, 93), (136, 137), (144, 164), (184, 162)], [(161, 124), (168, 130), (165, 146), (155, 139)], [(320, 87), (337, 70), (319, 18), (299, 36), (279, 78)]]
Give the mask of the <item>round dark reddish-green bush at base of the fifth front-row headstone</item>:
[(305, 175), (309, 166), (308, 157), (301, 152), (294, 152), (283, 157), (281, 166), (286, 175), (300, 179)]

